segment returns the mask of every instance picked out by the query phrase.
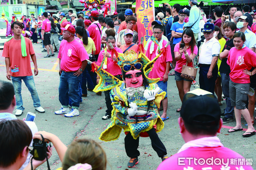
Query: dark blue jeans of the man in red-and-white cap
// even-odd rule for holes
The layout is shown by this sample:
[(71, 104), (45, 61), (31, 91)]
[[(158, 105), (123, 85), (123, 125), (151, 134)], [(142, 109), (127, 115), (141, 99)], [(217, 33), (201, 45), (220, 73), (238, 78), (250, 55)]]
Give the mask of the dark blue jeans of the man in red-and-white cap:
[(59, 101), (64, 108), (67, 108), (70, 99), (72, 108), (78, 109), (80, 101), (79, 82), (82, 75), (80, 74), (77, 77), (73, 74), (74, 72), (62, 71), (59, 85)]

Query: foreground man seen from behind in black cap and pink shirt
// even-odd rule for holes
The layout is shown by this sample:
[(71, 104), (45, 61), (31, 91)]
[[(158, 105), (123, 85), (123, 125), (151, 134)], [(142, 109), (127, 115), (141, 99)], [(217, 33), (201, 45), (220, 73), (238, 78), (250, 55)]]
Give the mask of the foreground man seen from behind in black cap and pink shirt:
[(186, 143), (157, 170), (253, 170), (253, 159), (224, 147), (217, 137), (222, 119), (214, 94), (202, 89), (186, 93), (178, 122)]

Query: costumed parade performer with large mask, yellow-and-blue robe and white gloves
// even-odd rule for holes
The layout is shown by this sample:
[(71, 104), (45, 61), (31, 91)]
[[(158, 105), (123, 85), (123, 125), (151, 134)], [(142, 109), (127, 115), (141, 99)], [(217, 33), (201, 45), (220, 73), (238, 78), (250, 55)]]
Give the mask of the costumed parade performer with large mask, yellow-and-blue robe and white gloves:
[(118, 56), (117, 64), (122, 69), (123, 81), (103, 70), (103, 63), (100, 66), (95, 62), (92, 64), (100, 77), (99, 84), (93, 91), (106, 91), (113, 88), (110, 92), (113, 105), (111, 123), (102, 132), (99, 139), (103, 141), (116, 140), (123, 129), (126, 134), (125, 151), (130, 157), (128, 167), (135, 167), (139, 162), (140, 152), (137, 148), (140, 136), (149, 136), (157, 155), (162, 161), (167, 158), (166, 147), (157, 135), (157, 132), (164, 127), (157, 108), (160, 107), (160, 102), (166, 92), (157, 86), (156, 82), (159, 78), (148, 78), (149, 71), (160, 55), (161, 53), (152, 61), (142, 53), (138, 56), (134, 51), (116, 55)]

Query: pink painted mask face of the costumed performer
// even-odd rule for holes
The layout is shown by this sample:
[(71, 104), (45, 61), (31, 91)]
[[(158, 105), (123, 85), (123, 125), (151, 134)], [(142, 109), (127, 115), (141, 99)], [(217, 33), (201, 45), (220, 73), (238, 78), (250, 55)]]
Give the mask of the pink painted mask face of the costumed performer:
[(143, 85), (142, 72), (140, 70), (130, 70), (125, 74), (125, 84), (127, 88), (138, 88)]

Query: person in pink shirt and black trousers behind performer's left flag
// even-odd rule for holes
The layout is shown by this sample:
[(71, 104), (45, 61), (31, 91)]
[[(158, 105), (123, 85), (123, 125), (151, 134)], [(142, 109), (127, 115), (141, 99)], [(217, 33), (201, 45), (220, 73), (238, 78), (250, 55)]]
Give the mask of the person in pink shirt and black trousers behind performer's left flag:
[[(115, 55), (111, 56), (111, 51), (112, 48), (110, 47), (109, 43), (112, 43), (113, 46), (115, 46), (116, 44), (116, 39), (113, 36), (108, 36), (106, 38), (106, 48), (104, 50), (102, 50), (99, 53), (99, 58), (98, 58), (98, 63), (104, 62), (103, 65), (103, 69), (105, 71), (107, 71), (108, 73), (112, 74), (113, 76), (115, 76), (116, 78), (120, 79), (120, 75), (122, 73), (121, 68), (119, 67), (119, 65), (117, 65), (117, 60)], [(114, 49), (118, 52), (118, 53), (122, 53), (122, 50), (120, 48), (114, 47)], [(103, 60), (103, 58), (106, 56), (106, 58)], [(97, 75), (97, 84), (99, 84), (99, 75)], [(111, 105), (111, 98), (110, 98), (110, 91), (104, 91), (105, 94), (105, 101), (106, 101), (106, 106), (107, 106), (107, 110), (105, 113), (105, 116), (102, 117), (103, 120), (109, 119), (111, 118), (111, 111), (113, 109), (112, 105)]]

